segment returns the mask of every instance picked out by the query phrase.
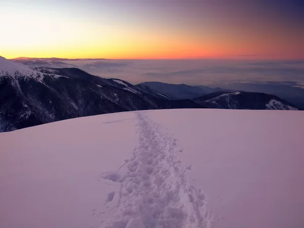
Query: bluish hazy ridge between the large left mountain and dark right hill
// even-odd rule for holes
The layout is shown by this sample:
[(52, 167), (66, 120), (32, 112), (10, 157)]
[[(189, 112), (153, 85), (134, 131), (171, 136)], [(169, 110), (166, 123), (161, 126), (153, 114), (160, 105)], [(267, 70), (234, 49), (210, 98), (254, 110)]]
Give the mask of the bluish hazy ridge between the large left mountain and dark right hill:
[[(144, 82), (137, 86), (148, 86), (161, 94), (170, 97), (172, 99), (193, 99), (208, 93), (223, 91), (220, 88), (210, 88), (206, 86), (188, 86), (185, 84), (168, 84), (161, 82)], [(224, 90), (226, 91), (226, 90)]]

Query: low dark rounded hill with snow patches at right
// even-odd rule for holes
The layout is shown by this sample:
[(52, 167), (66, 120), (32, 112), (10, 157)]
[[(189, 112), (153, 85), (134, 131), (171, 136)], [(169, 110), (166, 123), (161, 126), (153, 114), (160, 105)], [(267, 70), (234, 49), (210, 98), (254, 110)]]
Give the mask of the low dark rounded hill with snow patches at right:
[(298, 110), (288, 101), (265, 93), (218, 91), (194, 100), (209, 108)]

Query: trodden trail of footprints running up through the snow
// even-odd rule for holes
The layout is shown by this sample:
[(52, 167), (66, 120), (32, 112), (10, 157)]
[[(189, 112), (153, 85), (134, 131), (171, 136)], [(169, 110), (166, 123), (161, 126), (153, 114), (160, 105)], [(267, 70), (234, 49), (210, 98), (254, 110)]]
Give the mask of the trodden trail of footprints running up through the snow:
[(108, 194), (104, 211), (93, 210), (99, 221), (91, 227), (209, 228), (206, 197), (175, 156), (177, 140), (161, 133), (143, 112), (136, 115), (139, 146), (118, 171), (100, 175), (99, 180), (118, 183), (120, 189)]

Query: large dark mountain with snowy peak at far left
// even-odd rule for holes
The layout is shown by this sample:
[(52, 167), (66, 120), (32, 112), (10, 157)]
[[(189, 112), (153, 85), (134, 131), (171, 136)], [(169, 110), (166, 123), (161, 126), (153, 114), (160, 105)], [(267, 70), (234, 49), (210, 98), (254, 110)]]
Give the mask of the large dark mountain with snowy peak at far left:
[(28, 68), (0, 58), (0, 132), (102, 113), (204, 107), (160, 97), (80, 69)]

